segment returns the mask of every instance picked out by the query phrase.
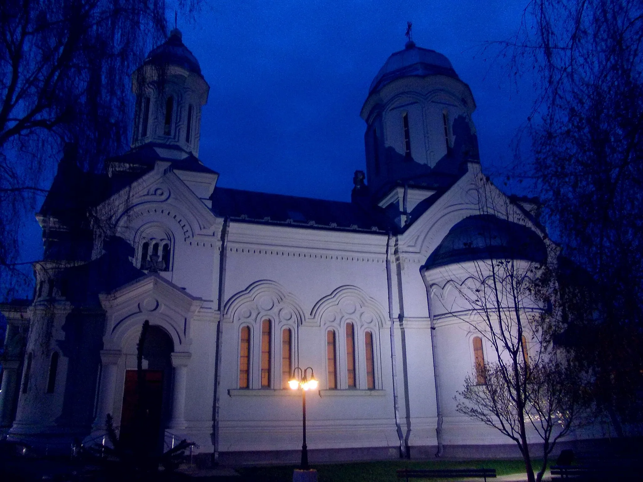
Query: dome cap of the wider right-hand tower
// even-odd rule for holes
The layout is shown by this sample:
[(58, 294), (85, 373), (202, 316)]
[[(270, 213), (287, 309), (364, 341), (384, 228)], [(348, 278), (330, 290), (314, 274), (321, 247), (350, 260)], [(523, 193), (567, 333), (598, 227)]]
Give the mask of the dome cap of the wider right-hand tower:
[(449, 59), (435, 50), (425, 49), (415, 45), (413, 40), (406, 42), (404, 50), (393, 53), (370, 84), (368, 93), (379, 91), (386, 84), (390, 84), (397, 78), (427, 75), (446, 75), (448, 77), (459, 77)]

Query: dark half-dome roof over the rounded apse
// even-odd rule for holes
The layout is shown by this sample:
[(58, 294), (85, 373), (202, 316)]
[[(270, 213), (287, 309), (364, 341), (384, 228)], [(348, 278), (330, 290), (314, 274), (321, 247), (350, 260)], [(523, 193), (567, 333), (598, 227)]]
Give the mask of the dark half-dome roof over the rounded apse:
[(424, 267), (475, 260), (547, 261), (547, 249), (532, 229), (493, 215), (469, 216), (458, 222), (431, 253)]

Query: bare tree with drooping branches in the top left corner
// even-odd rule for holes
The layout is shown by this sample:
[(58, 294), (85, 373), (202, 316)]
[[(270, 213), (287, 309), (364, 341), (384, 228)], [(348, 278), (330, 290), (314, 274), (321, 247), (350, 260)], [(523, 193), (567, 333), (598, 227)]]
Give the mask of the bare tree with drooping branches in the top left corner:
[[(193, 13), (199, 0), (177, 0)], [(131, 72), (167, 33), (165, 0), (0, 3), (0, 280), (3, 296), (29, 276), (16, 264), (24, 213), (37, 208), (64, 144), (100, 172), (129, 141)], [(12, 288), (14, 292), (12, 292)]]

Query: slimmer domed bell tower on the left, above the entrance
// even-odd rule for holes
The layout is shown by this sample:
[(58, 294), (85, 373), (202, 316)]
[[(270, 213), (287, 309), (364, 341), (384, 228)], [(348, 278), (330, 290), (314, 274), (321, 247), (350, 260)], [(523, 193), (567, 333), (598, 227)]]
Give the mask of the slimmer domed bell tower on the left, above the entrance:
[(175, 28), (132, 74), (136, 94), (132, 147), (174, 146), (198, 157), (201, 107), (208, 101), (208, 91), (199, 62)]

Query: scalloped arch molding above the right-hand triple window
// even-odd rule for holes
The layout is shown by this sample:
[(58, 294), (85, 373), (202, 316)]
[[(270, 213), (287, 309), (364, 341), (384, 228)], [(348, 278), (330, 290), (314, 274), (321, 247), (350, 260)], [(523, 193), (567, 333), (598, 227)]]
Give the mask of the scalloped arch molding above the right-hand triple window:
[(340, 286), (317, 301), (311, 317), (318, 326), (343, 326), (345, 319), (352, 319), (361, 326), (372, 328), (382, 328), (386, 319), (376, 299), (352, 285)]

